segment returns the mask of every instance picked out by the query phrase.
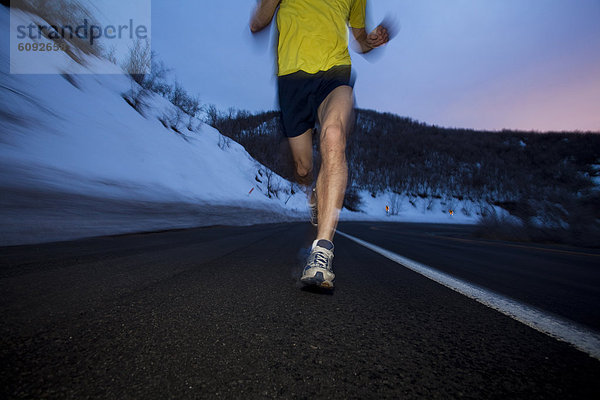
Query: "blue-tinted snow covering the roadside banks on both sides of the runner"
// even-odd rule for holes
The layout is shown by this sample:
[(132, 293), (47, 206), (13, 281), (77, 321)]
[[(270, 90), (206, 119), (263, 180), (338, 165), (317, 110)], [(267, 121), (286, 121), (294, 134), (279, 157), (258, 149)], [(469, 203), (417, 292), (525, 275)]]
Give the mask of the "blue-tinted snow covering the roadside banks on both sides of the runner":
[[(20, 15), (27, 25), (31, 16)], [(9, 10), (0, 6), (0, 27), (8, 26)], [(275, 176), (282, 190), (269, 198), (259, 172), (266, 168), (239, 144), (223, 145), (223, 136), (199, 120), (192, 131), (165, 127), (160, 120), (176, 108), (156, 94), (145, 98), (141, 113), (131, 107), (123, 95), (136, 84), (128, 76), (70, 74), (73, 61), (61, 52), (51, 62), (55, 74), (11, 75), (9, 54), (8, 40), (1, 41), (0, 245), (305, 218), (304, 194), (289, 194), (290, 183)], [(103, 63), (102, 70), (119, 68), (86, 60)], [(408, 198), (388, 216), (389, 195), (361, 196), (363, 212), (344, 211), (343, 219), (475, 218), (451, 216), (439, 201), (425, 206)], [(465, 207), (473, 208), (457, 209)]]

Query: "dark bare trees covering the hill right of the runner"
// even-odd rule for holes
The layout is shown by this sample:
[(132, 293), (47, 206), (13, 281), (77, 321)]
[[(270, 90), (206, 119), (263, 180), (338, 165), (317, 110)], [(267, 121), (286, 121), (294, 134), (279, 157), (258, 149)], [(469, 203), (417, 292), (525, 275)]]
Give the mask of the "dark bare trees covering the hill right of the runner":
[(359, 110), (349, 155), (374, 191), (507, 201), (590, 189), (600, 136), (446, 129)]

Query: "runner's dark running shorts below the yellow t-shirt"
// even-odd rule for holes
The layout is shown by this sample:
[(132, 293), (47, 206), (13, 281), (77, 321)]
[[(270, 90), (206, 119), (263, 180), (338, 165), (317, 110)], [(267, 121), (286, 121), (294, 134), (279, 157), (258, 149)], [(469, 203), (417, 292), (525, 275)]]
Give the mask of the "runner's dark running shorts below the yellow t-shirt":
[(304, 71), (277, 78), (283, 134), (296, 137), (315, 127), (317, 110), (338, 86), (354, 87), (351, 67), (340, 65), (309, 74)]

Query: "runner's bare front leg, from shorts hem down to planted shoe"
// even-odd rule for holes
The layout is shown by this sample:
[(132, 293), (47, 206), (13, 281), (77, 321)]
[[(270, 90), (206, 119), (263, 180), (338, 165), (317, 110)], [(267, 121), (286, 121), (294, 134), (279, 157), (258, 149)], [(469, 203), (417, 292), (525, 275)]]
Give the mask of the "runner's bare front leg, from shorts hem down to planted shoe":
[(317, 239), (333, 240), (348, 181), (346, 138), (354, 110), (350, 86), (338, 86), (319, 106), (321, 169), (317, 178), (319, 228)]

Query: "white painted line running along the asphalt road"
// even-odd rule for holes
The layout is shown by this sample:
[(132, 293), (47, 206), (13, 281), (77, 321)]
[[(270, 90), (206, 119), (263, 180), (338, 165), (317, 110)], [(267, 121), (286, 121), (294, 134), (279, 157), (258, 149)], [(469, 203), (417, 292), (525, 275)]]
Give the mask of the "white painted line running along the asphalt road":
[(365, 242), (359, 238), (337, 231), (338, 234), (373, 250), (390, 260), (411, 269), (431, 280), (444, 285), (464, 296), (478, 301), (494, 310), (500, 311), (539, 332), (555, 339), (567, 342), (588, 355), (600, 360), (600, 335), (594, 331), (579, 326), (575, 322), (548, 315), (542, 310), (519, 303), (516, 300), (483, 289), (477, 285), (465, 282), (451, 275), (403, 257), (379, 246)]

